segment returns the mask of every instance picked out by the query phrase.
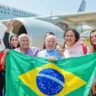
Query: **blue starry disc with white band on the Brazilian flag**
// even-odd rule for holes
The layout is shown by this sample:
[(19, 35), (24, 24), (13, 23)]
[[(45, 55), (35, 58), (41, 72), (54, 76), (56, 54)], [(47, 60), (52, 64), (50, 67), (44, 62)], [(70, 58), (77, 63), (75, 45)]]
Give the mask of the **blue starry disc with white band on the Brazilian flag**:
[(39, 90), (48, 96), (58, 94), (64, 88), (65, 79), (55, 69), (46, 68), (41, 70), (36, 77), (36, 84)]

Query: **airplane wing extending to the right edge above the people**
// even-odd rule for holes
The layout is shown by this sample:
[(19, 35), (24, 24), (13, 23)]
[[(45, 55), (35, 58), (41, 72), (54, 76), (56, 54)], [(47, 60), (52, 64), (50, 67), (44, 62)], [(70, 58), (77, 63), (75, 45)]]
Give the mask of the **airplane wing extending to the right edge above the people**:
[(58, 25), (62, 29), (65, 29), (70, 25), (71, 26), (88, 25), (94, 28), (96, 27), (96, 12), (80, 12), (75, 14), (42, 16), (36, 18), (49, 21), (53, 24)]

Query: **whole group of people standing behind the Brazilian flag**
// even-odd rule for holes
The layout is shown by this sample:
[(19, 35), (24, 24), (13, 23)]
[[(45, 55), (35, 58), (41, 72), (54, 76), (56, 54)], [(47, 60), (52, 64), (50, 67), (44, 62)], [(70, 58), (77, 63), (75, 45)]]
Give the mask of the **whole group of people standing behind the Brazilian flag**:
[[(64, 32), (64, 44), (60, 46), (57, 43), (56, 36), (53, 32), (47, 32), (44, 37), (44, 44), (42, 48), (32, 47), (30, 46), (30, 37), (27, 34), (17, 35), (10, 35), (10, 30), (12, 28), (13, 22), (8, 23), (8, 29), (4, 34), (4, 44), (6, 49), (4, 54), (1, 58), (1, 64), (6, 65), (6, 55), (8, 54), (10, 49), (13, 49), (17, 52), (23, 53), (28, 56), (38, 56), (49, 59), (50, 61), (53, 60), (60, 60), (64, 58), (71, 58), (82, 56), (85, 54), (89, 54), (92, 52), (96, 52), (96, 30), (93, 30), (90, 33), (90, 44), (92, 49), (89, 49), (82, 39), (80, 38), (80, 34), (74, 28), (68, 28)], [(10, 41), (9, 41), (10, 38)], [(0, 71), (0, 82), (3, 82), (2, 79), (2, 70)], [(96, 82), (92, 85), (90, 96), (96, 96)], [(3, 96), (3, 87), (4, 83), (0, 83), (0, 96)]]

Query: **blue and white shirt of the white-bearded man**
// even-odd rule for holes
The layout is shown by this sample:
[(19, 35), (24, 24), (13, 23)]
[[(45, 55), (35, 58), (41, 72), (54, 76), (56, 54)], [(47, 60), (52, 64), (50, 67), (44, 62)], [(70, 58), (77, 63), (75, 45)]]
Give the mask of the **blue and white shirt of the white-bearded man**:
[(46, 59), (48, 59), (50, 56), (54, 56), (57, 60), (64, 59), (64, 57), (61, 56), (56, 49), (52, 49), (52, 50), (44, 49), (44, 50), (40, 51), (37, 56), (43, 57)]

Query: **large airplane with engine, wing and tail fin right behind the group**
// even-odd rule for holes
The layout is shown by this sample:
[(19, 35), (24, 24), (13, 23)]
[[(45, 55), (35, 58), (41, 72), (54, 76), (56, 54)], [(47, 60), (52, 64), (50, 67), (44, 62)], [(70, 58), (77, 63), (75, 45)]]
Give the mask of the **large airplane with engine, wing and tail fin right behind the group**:
[[(40, 48), (42, 46), (42, 42), (44, 42), (43, 38), (45, 33), (54, 32), (58, 42), (62, 45), (64, 30), (68, 27), (78, 27), (84, 24), (94, 26), (96, 21), (93, 19), (96, 18), (96, 12), (81, 12), (85, 11), (85, 6), (86, 2), (83, 0), (77, 11), (78, 13), (75, 14), (15, 18), (13, 19), (14, 24), (12, 32), (18, 35), (27, 33), (32, 38), (32, 46)], [(2, 20), (1, 25), (3, 24), (3, 27), (6, 27), (5, 25), (7, 22), (7, 20)], [(2, 36), (0, 35), (1, 40), (3, 38), (3, 34), (4, 31), (2, 31)]]

